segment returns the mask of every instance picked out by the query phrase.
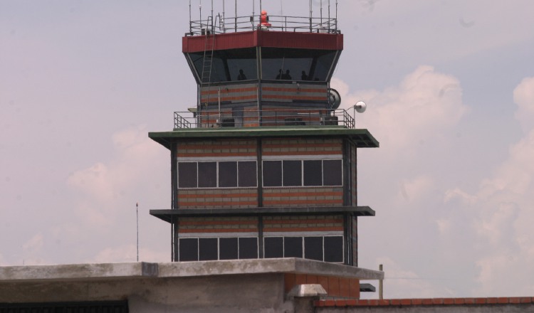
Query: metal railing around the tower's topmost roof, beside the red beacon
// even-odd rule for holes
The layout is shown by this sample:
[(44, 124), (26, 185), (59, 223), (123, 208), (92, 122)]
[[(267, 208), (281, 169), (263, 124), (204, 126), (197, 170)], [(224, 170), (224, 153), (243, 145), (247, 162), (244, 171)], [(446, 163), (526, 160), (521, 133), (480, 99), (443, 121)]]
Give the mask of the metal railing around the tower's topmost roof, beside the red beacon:
[(291, 31), (306, 33), (340, 33), (336, 18), (304, 16), (268, 16), (268, 24), (261, 23), (261, 16), (237, 16), (231, 18), (208, 17), (189, 21), (187, 36), (236, 33), (239, 31)]

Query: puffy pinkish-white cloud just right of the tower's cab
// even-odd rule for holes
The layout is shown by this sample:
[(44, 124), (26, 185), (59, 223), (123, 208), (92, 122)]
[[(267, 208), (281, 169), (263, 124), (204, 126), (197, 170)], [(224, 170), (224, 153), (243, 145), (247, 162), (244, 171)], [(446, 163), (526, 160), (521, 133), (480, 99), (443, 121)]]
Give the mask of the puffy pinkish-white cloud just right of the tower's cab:
[(357, 125), (372, 125), (387, 146), (406, 148), (439, 136), (467, 112), (459, 80), (428, 65), (419, 66), (399, 85), (383, 91), (350, 93), (347, 84), (335, 78), (331, 85), (340, 91), (345, 109), (350, 110), (359, 100), (367, 102), (369, 110), (356, 116)]

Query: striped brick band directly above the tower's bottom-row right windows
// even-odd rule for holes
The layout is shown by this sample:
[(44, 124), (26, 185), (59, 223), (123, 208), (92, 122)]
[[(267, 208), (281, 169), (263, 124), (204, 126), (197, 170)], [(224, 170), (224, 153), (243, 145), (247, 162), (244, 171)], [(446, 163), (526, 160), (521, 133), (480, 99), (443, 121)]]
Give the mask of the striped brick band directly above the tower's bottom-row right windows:
[(263, 232), (291, 233), (291, 232), (333, 232), (343, 231), (342, 216), (265, 216), (263, 218)]

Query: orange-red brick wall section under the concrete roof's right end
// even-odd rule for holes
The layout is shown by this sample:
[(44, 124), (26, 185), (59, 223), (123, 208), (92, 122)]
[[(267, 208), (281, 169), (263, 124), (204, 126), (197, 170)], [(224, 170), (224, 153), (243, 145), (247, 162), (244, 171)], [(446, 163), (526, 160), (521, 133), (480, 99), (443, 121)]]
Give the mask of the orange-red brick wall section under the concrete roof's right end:
[[(360, 280), (323, 275), (285, 274), (284, 290), (290, 290), (296, 285), (319, 284), (325, 288), (330, 297), (357, 299), (360, 297)], [(318, 302), (315, 302), (318, 303)], [(317, 306), (317, 304), (316, 304)]]

